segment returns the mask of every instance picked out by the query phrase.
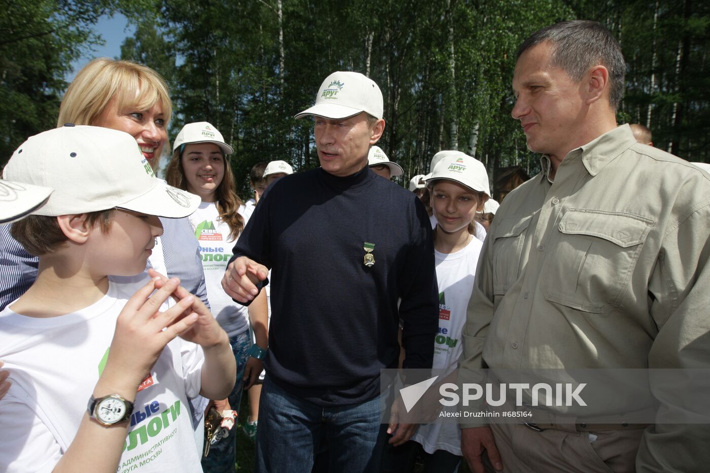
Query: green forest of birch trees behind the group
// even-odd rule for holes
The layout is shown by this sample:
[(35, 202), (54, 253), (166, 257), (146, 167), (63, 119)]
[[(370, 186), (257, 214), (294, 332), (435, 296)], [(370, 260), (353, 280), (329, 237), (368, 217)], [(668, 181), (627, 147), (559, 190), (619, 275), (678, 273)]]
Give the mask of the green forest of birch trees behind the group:
[[(153, 67), (173, 99), (170, 137), (209, 121), (235, 149), (242, 197), (249, 169), (283, 159), (315, 168), (312, 121), (293, 115), (335, 70), (373, 78), (387, 126), (378, 143), (407, 185), (431, 157), (458, 149), (486, 164), (539, 168), (510, 117), (515, 50), (533, 31), (600, 21), (628, 64), (619, 123), (655, 146), (710, 162), (710, 2), (697, 0), (0, 0), (0, 166), (26, 137), (56, 126), (72, 61), (102, 42), (99, 17), (136, 27), (121, 58)], [(168, 148), (168, 147), (166, 147)], [(165, 160), (164, 160), (165, 161)]]

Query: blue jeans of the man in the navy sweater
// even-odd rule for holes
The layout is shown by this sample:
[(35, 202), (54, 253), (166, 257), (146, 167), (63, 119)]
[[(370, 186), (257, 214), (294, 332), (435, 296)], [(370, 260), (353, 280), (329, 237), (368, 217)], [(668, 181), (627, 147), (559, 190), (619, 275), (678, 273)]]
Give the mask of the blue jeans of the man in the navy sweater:
[(315, 455), (327, 450), (330, 472), (380, 469), (387, 424), (380, 398), (349, 406), (317, 406), (276, 386), (268, 374), (259, 404), (256, 473), (308, 473)]

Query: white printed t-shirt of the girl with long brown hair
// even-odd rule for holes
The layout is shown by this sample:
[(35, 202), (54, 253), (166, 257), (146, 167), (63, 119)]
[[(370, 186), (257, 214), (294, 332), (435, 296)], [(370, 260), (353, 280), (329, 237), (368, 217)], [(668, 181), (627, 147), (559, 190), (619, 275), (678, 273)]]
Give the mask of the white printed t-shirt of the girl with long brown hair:
[[(239, 214), (244, 218), (244, 205), (239, 207)], [(202, 202), (190, 215), (190, 225), (200, 244), (204, 283), (212, 314), (229, 337), (249, 330), (248, 309), (231, 300), (222, 288), (226, 263), (231, 258), (231, 249), (236, 242), (236, 239), (229, 239), (229, 225), (219, 219), (219, 210), (214, 202)]]

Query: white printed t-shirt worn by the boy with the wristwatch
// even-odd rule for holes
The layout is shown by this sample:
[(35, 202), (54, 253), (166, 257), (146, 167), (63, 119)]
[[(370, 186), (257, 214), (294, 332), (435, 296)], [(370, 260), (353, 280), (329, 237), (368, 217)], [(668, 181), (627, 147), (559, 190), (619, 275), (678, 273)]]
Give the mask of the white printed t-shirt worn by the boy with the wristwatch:
[[(58, 317), (18, 315), (12, 304), (0, 312), (0, 359), (12, 382), (0, 399), (0, 471), (53, 470), (87, 411), (116, 318), (146, 281), (109, 282), (97, 303)], [(136, 395), (116, 472), (202, 471), (187, 402), (200, 393), (203, 362), (202, 349), (180, 338), (163, 349)]]

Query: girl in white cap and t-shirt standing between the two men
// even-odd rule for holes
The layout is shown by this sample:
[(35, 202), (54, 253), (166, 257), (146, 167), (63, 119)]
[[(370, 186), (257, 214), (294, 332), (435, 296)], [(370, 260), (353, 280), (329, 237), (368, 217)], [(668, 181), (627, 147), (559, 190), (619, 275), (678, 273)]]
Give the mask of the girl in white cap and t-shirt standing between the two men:
[[(453, 371), (463, 345), (461, 332), (474, 287), (483, 243), (474, 237), (474, 217), (489, 198), (488, 175), (480, 161), (464, 153), (444, 156), (427, 175), (432, 215), (437, 225), (434, 249), (439, 285), (439, 333), (435, 337), (433, 368), (446, 376)], [(419, 447), (417, 444), (421, 445)], [(382, 472), (413, 469), (423, 449), (424, 472), (456, 472), (461, 462), (459, 425), (452, 422), (422, 424), (412, 440), (388, 447)]]

